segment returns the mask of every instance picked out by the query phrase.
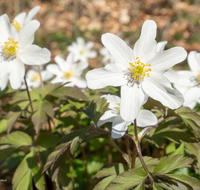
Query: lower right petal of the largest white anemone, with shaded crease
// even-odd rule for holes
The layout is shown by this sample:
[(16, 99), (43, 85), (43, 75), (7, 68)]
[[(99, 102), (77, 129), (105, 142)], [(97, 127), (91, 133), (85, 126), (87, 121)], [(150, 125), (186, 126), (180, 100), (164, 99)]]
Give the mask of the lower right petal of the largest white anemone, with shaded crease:
[(149, 78), (144, 78), (142, 88), (151, 98), (171, 109), (177, 109), (183, 104), (182, 94), (172, 88), (171, 83), (161, 74), (151, 72)]

